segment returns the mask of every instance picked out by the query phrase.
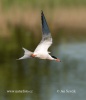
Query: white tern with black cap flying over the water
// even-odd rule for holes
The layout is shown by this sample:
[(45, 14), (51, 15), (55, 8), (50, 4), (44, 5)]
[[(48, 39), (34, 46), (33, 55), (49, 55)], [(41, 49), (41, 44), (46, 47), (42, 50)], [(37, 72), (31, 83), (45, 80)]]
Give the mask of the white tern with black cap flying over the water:
[(38, 44), (34, 52), (22, 48), (24, 50), (24, 56), (22, 56), (18, 60), (27, 59), (27, 58), (39, 58), (39, 59), (48, 59), (48, 60), (55, 60), (57, 62), (61, 62), (59, 58), (55, 56), (51, 56), (50, 52), (48, 51), (48, 48), (52, 44), (52, 37), (43, 11), (41, 11), (41, 23), (42, 23), (41, 42)]

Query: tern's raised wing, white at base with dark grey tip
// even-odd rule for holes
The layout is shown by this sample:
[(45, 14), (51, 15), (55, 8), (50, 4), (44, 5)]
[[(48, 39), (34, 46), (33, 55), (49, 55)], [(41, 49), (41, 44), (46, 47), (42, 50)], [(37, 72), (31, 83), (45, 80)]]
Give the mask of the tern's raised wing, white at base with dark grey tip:
[(48, 28), (48, 25), (47, 25), (45, 16), (43, 14), (43, 11), (41, 11), (41, 21), (42, 21), (42, 40), (34, 51), (34, 52), (37, 52), (37, 53), (48, 52), (48, 48), (52, 44), (51, 33), (50, 33), (49, 28)]

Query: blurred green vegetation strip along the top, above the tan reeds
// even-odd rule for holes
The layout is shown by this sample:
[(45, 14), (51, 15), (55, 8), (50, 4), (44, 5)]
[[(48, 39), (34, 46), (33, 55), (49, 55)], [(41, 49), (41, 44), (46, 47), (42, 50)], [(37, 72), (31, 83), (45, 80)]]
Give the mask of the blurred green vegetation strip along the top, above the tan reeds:
[(55, 8), (62, 6), (86, 6), (86, 0), (0, 0), (3, 7), (9, 8), (13, 5), (20, 7)]

